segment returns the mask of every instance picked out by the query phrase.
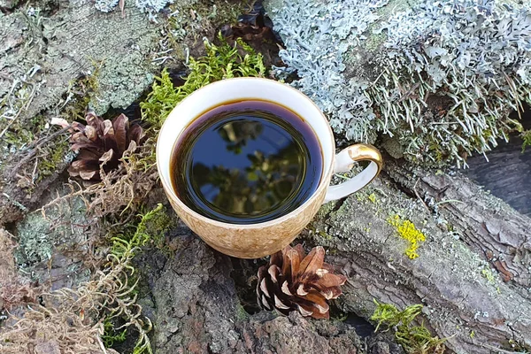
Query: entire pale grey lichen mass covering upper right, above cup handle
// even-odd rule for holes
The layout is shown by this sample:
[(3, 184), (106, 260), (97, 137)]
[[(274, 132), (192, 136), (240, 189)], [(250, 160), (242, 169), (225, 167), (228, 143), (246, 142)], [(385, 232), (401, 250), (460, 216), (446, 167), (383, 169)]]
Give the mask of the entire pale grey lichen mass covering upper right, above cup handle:
[[(418, 162), (466, 164), (468, 154), (519, 128), (508, 113), (531, 102), (530, 5), (421, 2), (378, 19), (386, 4), (270, 3), (287, 46), (288, 68), (277, 73), (296, 71), (293, 85), (327, 113), (336, 133), (362, 142), (392, 136)], [(379, 50), (366, 46), (375, 46), (374, 36)], [(357, 50), (373, 58), (345, 58)], [(369, 63), (364, 73), (350, 67), (356, 60)]]

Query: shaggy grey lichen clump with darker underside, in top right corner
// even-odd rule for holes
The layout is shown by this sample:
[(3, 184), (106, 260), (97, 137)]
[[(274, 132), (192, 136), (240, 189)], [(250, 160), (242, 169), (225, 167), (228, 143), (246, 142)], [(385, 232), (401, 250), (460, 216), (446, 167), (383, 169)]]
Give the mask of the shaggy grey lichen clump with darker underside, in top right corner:
[(459, 165), (519, 126), (508, 113), (531, 101), (529, 6), (426, 3), (381, 29), (389, 62), (369, 96), (380, 107), (379, 130), (398, 135), (413, 159)]

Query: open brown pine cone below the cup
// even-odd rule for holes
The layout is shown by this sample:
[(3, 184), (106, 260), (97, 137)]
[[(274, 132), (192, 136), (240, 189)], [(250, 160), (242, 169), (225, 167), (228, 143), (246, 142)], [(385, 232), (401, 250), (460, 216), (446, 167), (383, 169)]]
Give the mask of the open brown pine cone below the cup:
[(269, 266), (258, 269), (258, 304), (284, 315), (298, 311), (314, 319), (328, 319), (327, 300), (342, 294), (339, 287), (347, 278), (334, 274), (324, 258), (325, 250), (320, 246), (304, 257), (301, 244), (273, 254)]

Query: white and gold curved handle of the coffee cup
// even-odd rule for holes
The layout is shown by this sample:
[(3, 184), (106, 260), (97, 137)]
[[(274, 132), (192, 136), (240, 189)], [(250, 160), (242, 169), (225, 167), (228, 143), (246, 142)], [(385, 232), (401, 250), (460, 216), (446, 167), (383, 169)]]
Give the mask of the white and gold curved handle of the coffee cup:
[(373, 145), (369, 144), (360, 143), (350, 145), (348, 148), (343, 149), (339, 154), (335, 155), (334, 173), (349, 172), (355, 161), (364, 160), (370, 161), (371, 163), (349, 181), (328, 187), (327, 196), (325, 196), (325, 201), (323, 203), (341, 199), (364, 188), (376, 178), (383, 165), (380, 151), (374, 148)]

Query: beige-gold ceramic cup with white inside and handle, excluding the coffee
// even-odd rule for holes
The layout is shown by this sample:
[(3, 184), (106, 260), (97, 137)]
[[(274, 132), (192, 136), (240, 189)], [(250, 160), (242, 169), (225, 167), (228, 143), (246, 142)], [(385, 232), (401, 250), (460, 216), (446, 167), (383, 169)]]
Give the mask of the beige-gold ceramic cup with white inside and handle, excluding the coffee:
[[(170, 162), (175, 143), (204, 112), (227, 102), (257, 99), (288, 108), (312, 127), (318, 137), (323, 160), (319, 187), (293, 212), (257, 224), (229, 224), (194, 212), (179, 199), (172, 186)], [(347, 172), (354, 161), (361, 160), (370, 161), (365, 170), (349, 181), (329, 186), (334, 173)], [(371, 145), (351, 145), (335, 155), (330, 125), (312, 100), (289, 85), (258, 78), (227, 79), (196, 90), (165, 119), (157, 142), (158, 173), (175, 212), (212, 248), (237, 258), (260, 258), (283, 249), (310, 223), (321, 204), (364, 188), (380, 173), (381, 165), (381, 154)]]

